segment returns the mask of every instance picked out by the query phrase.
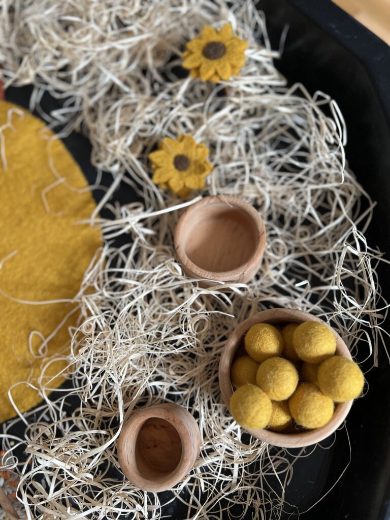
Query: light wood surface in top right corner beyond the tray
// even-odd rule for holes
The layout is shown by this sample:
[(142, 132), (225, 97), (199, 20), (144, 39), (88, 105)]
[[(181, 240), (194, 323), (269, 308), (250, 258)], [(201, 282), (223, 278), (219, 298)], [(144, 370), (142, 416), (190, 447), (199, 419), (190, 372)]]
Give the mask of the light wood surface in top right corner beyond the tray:
[(367, 29), (390, 44), (390, 0), (333, 0)]

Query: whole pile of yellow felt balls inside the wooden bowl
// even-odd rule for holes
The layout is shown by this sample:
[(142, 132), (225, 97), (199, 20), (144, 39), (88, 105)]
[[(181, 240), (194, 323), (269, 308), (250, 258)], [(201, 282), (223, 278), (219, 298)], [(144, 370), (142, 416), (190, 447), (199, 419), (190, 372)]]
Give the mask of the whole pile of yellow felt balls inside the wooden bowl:
[(245, 334), (244, 345), (245, 355), (231, 367), (236, 391), (230, 412), (250, 430), (320, 428), (331, 420), (334, 403), (362, 392), (360, 368), (334, 355), (335, 336), (319, 321), (289, 323), (281, 330), (256, 323)]

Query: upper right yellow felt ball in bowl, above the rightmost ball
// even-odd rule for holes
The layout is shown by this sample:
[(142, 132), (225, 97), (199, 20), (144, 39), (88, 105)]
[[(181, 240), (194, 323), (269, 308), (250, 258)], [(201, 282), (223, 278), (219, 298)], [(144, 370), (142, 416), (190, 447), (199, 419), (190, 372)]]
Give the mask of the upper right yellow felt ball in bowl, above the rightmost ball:
[(319, 321), (301, 323), (293, 334), (294, 350), (308, 363), (321, 363), (336, 350), (336, 339), (330, 327)]

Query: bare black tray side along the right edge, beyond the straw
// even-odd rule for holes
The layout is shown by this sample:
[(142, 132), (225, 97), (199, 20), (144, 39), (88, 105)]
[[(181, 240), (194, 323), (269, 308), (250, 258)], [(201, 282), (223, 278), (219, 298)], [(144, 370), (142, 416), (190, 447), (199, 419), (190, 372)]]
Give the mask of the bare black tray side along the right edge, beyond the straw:
[[(369, 0), (368, 0), (369, 2)], [(330, 94), (347, 125), (346, 157), (358, 180), (378, 201), (366, 233), (371, 246), (390, 243), (390, 47), (329, 0), (262, 0), (272, 47), (289, 25), (276, 63), (290, 83), (313, 94)], [(388, 255), (387, 255), (387, 258)], [(389, 269), (379, 269), (382, 293), (390, 295)], [(387, 330), (388, 322), (386, 325)], [(383, 351), (379, 368), (367, 374), (370, 391), (348, 415), (352, 461), (340, 482), (303, 518), (390, 518), (390, 367)], [(349, 454), (345, 442), (321, 460), (317, 451), (295, 466), (288, 499), (304, 511), (335, 482)], [(314, 483), (313, 483), (314, 481)], [(283, 515), (282, 518), (289, 515)]]

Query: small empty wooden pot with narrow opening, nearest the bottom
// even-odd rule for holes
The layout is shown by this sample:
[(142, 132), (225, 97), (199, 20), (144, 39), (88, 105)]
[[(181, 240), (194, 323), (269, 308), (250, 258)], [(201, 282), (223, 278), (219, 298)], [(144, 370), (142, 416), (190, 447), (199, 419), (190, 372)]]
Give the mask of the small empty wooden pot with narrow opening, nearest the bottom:
[(201, 436), (192, 415), (174, 404), (138, 410), (123, 426), (118, 441), (121, 469), (144, 491), (172, 489), (199, 457)]

